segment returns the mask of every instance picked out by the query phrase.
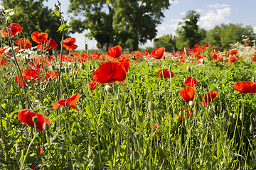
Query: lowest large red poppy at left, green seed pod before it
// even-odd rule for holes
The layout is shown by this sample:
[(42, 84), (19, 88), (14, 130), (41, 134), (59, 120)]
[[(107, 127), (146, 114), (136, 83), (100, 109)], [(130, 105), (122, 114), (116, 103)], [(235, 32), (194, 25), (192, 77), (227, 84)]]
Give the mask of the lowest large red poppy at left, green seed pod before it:
[(32, 128), (34, 128), (34, 123), (32, 120), (34, 116), (38, 118), (38, 121), (36, 122), (36, 128), (39, 131), (44, 130), (43, 123), (45, 122), (50, 126), (50, 120), (46, 117), (46, 115), (43, 115), (43, 113), (36, 113), (28, 110), (22, 110), (18, 112), (18, 120), (26, 125), (30, 125)]

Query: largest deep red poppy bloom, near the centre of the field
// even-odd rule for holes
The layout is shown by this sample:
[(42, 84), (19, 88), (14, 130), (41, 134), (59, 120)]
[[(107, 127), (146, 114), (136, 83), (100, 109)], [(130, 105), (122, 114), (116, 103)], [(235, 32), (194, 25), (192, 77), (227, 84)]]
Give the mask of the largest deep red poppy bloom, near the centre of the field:
[(105, 84), (114, 83), (115, 81), (124, 81), (126, 79), (126, 70), (119, 62), (105, 62), (92, 73), (95, 81)]

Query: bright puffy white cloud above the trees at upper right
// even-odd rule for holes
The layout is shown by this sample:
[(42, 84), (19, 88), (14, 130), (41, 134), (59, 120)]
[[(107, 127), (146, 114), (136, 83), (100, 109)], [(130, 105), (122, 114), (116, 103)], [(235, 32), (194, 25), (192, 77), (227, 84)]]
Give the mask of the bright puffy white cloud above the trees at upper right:
[(200, 21), (198, 22), (201, 28), (213, 28), (221, 23), (230, 23), (230, 21), (226, 18), (231, 13), (231, 8), (229, 5), (213, 4), (208, 5), (207, 7), (210, 9), (208, 12), (206, 12), (206, 15), (200, 17)]

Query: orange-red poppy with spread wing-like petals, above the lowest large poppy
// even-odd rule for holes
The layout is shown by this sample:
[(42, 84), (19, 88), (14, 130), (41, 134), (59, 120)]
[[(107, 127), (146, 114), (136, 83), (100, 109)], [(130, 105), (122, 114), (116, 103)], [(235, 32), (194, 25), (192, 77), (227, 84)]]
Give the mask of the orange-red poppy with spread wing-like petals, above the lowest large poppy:
[(53, 109), (58, 109), (58, 107), (61, 105), (64, 107), (71, 107), (71, 108), (75, 108), (76, 110), (78, 110), (78, 108), (75, 107), (75, 103), (78, 102), (80, 97), (81, 97), (80, 94), (73, 94), (72, 96), (68, 97), (67, 99), (57, 101), (56, 103), (53, 103)]

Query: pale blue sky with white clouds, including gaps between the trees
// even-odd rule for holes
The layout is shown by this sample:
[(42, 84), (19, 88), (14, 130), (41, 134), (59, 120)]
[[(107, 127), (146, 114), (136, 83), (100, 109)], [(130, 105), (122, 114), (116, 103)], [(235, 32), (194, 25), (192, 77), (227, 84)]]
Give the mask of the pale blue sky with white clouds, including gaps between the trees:
[[(59, 1), (65, 13), (65, 20), (69, 20), (68, 16), (72, 15), (67, 13), (70, 2), (68, 0)], [(195, 10), (200, 14), (198, 22), (200, 28), (211, 29), (221, 23), (241, 23), (242, 26), (252, 26), (256, 32), (256, 0), (174, 0), (170, 2), (171, 6), (164, 11), (163, 22), (157, 26), (157, 37), (170, 33), (174, 35), (178, 22), (181, 22), (182, 18), (186, 16), (186, 12), (190, 10)], [(45, 5), (54, 8), (54, 3), (57, 3), (57, 0), (48, 0)], [(79, 50), (85, 46), (85, 33), (72, 35), (77, 39), (76, 44)], [(151, 45), (153, 43), (148, 41), (141, 46)], [(95, 40), (89, 40), (89, 48), (96, 48)]]

